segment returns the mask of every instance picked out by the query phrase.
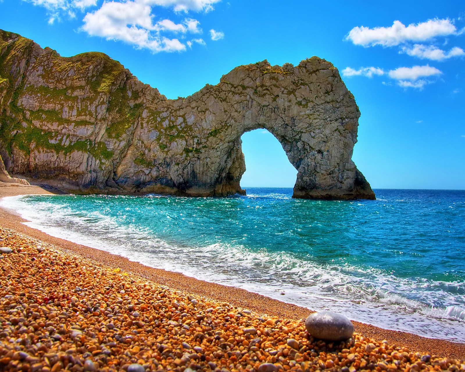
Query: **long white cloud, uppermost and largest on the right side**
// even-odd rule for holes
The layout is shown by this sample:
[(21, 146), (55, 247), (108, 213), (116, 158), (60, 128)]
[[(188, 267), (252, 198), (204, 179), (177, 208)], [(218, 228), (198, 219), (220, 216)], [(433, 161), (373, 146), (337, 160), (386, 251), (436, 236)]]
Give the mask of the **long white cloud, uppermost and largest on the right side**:
[(437, 36), (457, 34), (457, 28), (451, 20), (437, 18), (407, 27), (395, 20), (391, 27), (354, 27), (345, 40), (351, 40), (355, 45), (361, 46), (396, 46), (408, 41), (425, 41)]

